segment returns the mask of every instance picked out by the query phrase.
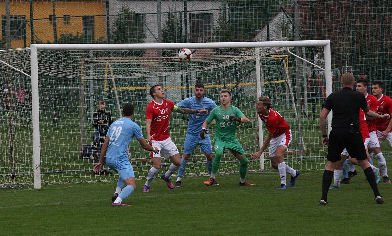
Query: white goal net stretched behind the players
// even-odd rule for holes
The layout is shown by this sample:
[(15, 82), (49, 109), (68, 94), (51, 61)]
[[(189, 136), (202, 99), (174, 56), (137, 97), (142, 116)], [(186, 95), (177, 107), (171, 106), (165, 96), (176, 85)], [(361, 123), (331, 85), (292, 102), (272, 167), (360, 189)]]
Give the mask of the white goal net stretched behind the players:
[[(4, 105), (0, 122), (0, 187), (34, 184), (39, 188), (41, 184), (117, 180), (117, 173), (106, 165), (99, 175), (92, 171), (103, 138), (96, 132), (94, 113), (103, 101), (105, 111), (114, 121), (121, 118), (123, 104), (131, 102), (135, 106), (134, 121), (145, 132), (145, 111), (152, 100), (149, 89), (155, 84), (162, 85), (165, 99), (174, 103), (193, 96), (196, 83), (204, 84), (205, 96), (217, 105), (220, 105), (220, 90), (229, 89), (232, 105), (250, 119), (249, 124), (237, 128), (237, 138), (248, 160), (267, 135), (255, 111), (256, 100), (260, 95), (269, 96), (273, 108), (292, 129), (293, 140), (286, 162), (295, 169), (323, 169), (326, 148), (320, 144), (318, 117), (327, 86), (322, 70), (324, 46), (218, 48), (205, 45), (176, 44), (172, 48), (151, 49), (121, 46), (111, 50), (105, 45), (86, 49), (63, 45), (38, 50), (37, 59), (32, 57), (33, 64), (34, 61), (38, 64), (38, 84), (30, 72), (33, 53), (30, 48), (1, 51)], [(181, 46), (193, 51), (191, 62), (179, 62)], [(34, 95), (34, 88), (38, 88), (38, 96)], [(170, 134), (180, 155), (187, 125), (187, 115), (171, 114)], [(212, 142), (214, 133), (213, 122), (210, 124)], [(133, 140), (128, 153), (136, 179), (147, 178), (151, 167), (149, 152)], [(160, 171), (165, 172), (170, 163), (168, 157), (162, 157)], [(231, 174), (238, 169), (237, 159), (225, 151), (218, 174)], [(268, 149), (259, 161), (249, 161), (249, 171), (270, 169)], [(208, 175), (206, 158), (196, 148), (184, 176), (203, 175)]]

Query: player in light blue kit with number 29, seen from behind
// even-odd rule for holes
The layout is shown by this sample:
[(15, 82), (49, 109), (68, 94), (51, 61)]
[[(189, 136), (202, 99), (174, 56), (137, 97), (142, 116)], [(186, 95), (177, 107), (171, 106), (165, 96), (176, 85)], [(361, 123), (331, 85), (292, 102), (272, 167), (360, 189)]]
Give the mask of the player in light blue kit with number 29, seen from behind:
[[(132, 121), (134, 114), (133, 105), (126, 103), (123, 106), (123, 117), (110, 125), (102, 145), (98, 164), (93, 168), (95, 173), (99, 173), (106, 154), (106, 164), (119, 173), (116, 191), (112, 197), (112, 206), (130, 206), (123, 204), (122, 201), (136, 189), (135, 174), (127, 152), (132, 138), (136, 137), (143, 149), (158, 152), (156, 147), (149, 145), (143, 138), (140, 126)], [(125, 188), (123, 188), (124, 186)]]

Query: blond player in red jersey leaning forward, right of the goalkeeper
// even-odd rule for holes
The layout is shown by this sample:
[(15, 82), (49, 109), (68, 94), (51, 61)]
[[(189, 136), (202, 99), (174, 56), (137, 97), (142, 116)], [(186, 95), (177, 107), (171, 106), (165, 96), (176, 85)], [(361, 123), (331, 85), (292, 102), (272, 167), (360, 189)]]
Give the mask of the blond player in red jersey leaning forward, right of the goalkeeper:
[(269, 97), (259, 97), (256, 104), (256, 111), (263, 123), (266, 124), (268, 134), (261, 149), (258, 152), (253, 153), (252, 160), (255, 161), (260, 158), (261, 154), (270, 144), (272, 167), (279, 170), (280, 174), (281, 183), (279, 189), (286, 189), (286, 172), (291, 175), (289, 186), (294, 186), (295, 181), (301, 172), (286, 165), (284, 160), (284, 156), (292, 138), (290, 126), (277, 111), (271, 108), (271, 100)]

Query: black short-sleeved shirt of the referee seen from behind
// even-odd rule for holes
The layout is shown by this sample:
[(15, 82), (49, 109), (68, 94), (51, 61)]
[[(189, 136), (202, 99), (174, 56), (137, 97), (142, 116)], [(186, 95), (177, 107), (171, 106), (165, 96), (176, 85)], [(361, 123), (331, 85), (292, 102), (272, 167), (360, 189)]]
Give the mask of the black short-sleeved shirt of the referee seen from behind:
[(343, 88), (330, 94), (322, 104), (322, 107), (332, 110), (332, 129), (349, 129), (350, 124), (354, 129), (359, 127), (359, 109), (368, 107), (364, 94), (353, 91), (351, 88)]

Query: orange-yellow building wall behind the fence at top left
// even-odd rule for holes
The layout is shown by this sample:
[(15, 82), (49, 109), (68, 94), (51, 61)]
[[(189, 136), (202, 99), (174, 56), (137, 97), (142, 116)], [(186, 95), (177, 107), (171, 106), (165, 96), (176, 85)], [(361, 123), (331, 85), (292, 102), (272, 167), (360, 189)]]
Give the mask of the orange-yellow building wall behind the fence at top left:
[[(0, 13), (5, 15), (5, 1), (0, 1)], [(55, 13), (57, 18), (57, 39), (61, 34), (83, 34), (83, 17), (94, 16), (94, 39), (106, 39), (106, 16), (104, 0), (56, 0)], [(49, 15), (53, 14), (53, 5), (49, 1), (37, 1), (33, 3), (34, 40), (42, 43), (53, 43), (53, 24), (49, 24)], [(30, 3), (29, 1), (10, 0), (10, 15), (25, 15), (26, 17), (26, 40), (27, 47), (31, 43)], [(70, 15), (70, 24), (64, 24), (63, 16)], [(100, 16), (98, 16), (100, 15)], [(79, 16), (79, 17), (73, 17)], [(60, 18), (59, 18), (60, 17)], [(1, 26), (1, 25), (0, 25)], [(2, 37), (2, 35), (1, 35)], [(25, 39), (12, 39), (12, 48), (25, 47)]]

